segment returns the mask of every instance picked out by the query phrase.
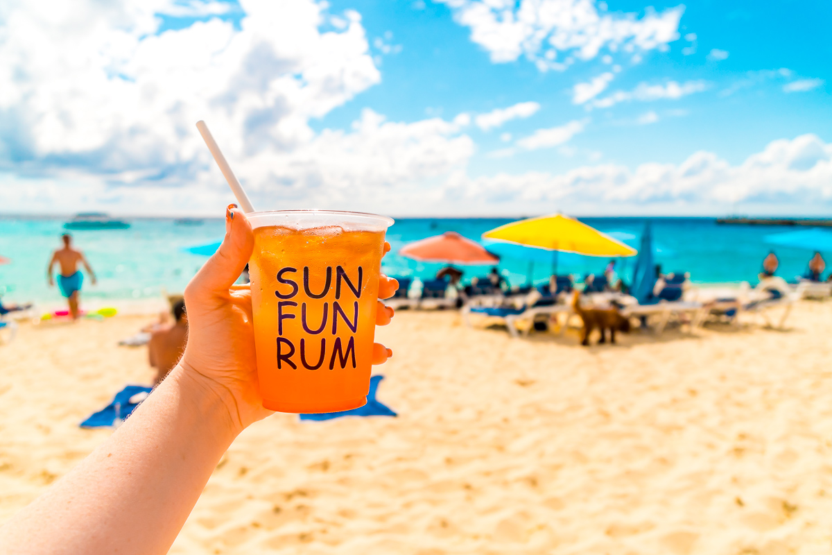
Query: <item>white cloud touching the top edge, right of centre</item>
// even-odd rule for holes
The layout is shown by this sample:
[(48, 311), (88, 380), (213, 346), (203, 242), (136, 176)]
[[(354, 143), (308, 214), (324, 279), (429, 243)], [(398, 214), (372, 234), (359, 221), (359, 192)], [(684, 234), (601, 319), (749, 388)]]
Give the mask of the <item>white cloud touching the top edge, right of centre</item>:
[[(512, 62), (522, 54), (541, 71), (561, 70), (577, 58), (599, 52), (665, 49), (679, 37), (683, 6), (635, 13), (598, 10), (593, 0), (438, 0), (454, 19), (471, 29), (471, 40), (493, 62)], [(558, 55), (566, 55), (558, 61)]]

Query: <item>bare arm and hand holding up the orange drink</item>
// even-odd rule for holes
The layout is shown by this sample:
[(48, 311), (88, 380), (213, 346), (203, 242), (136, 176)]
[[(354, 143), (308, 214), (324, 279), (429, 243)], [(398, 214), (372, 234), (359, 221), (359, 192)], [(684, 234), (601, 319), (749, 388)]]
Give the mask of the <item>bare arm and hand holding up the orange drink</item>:
[[(190, 330), (179, 364), (109, 439), (0, 528), (0, 553), (168, 552), (225, 449), (272, 414), (257, 385), (250, 286), (233, 285), (253, 248), (249, 221), (229, 206), (220, 249), (185, 290)], [(398, 287), (382, 275), (379, 297)], [(376, 324), (391, 318), (378, 310)], [(392, 354), (374, 345), (373, 364)]]

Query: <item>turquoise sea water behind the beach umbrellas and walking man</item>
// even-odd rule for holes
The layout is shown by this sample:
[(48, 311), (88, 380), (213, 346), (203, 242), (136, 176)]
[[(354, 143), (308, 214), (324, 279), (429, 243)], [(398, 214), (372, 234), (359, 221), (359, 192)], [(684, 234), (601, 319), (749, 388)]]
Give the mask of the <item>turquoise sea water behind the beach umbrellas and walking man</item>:
[[(581, 218), (639, 248), (646, 218)], [(0, 265), (0, 294), (7, 301), (54, 304), (62, 300), (55, 288), (47, 287), (46, 269), (53, 249), (60, 245), (63, 218), (0, 216), (0, 255), (11, 264)], [(141, 300), (158, 298), (161, 288), (181, 292), (191, 276), (206, 261), (187, 252), (188, 247), (213, 243), (222, 238), (222, 220), (204, 220), (201, 225), (178, 225), (167, 219), (132, 219), (127, 230), (72, 231), (75, 244), (87, 255), (98, 276), (90, 285), (85, 277), (83, 297), (97, 300)], [(473, 240), (509, 219), (397, 219), (388, 231), (393, 251), (384, 259), (389, 275), (432, 277), (442, 265), (408, 260), (396, 252), (410, 241), (457, 231)], [(755, 283), (763, 257), (770, 246), (765, 235), (793, 228), (759, 225), (718, 225), (713, 218), (650, 218), (654, 259), (665, 272), (687, 271), (702, 283)], [(791, 280), (803, 274), (812, 253), (808, 250), (775, 248), (780, 257), (778, 275)], [(552, 273), (552, 254), (537, 250), (526, 256), (503, 256), (499, 264), (513, 285), (547, 280)], [(591, 256), (560, 254), (559, 274), (585, 275), (601, 272), (608, 260)], [(629, 280), (635, 258), (622, 259), (617, 270)], [(488, 266), (465, 266), (463, 280), (484, 275)]]

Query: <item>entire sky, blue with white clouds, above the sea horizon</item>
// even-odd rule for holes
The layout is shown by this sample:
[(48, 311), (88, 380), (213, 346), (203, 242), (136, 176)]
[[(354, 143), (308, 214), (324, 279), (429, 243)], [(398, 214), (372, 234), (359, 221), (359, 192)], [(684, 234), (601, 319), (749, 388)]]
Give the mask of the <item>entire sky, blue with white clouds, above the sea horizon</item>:
[(209, 213), (203, 118), (260, 206), (832, 208), (829, 2), (52, 3), (0, 9), (6, 211)]

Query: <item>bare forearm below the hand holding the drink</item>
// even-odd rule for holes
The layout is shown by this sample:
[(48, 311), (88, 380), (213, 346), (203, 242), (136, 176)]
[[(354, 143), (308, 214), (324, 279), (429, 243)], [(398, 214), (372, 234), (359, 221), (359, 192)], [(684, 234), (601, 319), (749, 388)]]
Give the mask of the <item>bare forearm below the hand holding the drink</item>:
[(2, 553), (167, 553), (239, 430), (180, 367), (121, 428), (0, 529)]

